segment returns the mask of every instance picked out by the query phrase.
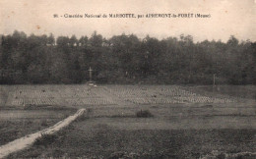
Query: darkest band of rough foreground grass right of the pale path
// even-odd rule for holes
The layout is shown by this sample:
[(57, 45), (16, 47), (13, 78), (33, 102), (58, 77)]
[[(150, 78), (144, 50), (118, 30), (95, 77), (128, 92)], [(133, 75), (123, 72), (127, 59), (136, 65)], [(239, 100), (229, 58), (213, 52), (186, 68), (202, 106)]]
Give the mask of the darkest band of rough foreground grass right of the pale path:
[(255, 129), (121, 130), (94, 123), (75, 122), (48, 144), (35, 144), (8, 158), (199, 158), (212, 151), (256, 151)]

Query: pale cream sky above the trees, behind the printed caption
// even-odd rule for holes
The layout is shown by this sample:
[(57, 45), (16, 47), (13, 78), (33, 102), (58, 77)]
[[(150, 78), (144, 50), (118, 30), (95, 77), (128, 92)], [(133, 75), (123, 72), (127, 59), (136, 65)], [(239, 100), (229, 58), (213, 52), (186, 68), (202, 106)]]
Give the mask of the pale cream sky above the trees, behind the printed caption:
[[(53, 15), (57, 14), (58, 18)], [(137, 18), (64, 18), (64, 15), (135, 14)], [(210, 18), (141, 18), (147, 14), (203, 14)], [(63, 17), (61, 17), (63, 16)], [(0, 0), (0, 34), (54, 36), (136, 34), (159, 39), (190, 34), (195, 41), (256, 41), (256, 0)]]

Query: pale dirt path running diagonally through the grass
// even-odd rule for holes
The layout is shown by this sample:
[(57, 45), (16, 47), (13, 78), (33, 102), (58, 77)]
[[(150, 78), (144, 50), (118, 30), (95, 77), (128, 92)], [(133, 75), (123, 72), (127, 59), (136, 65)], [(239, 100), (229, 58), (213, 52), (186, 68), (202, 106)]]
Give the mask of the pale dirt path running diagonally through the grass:
[(76, 120), (79, 116), (83, 115), (85, 111), (86, 109), (80, 109), (74, 115), (69, 116), (68, 118), (58, 122), (57, 124), (55, 124), (52, 127), (49, 127), (48, 129), (26, 135), (24, 137), (18, 138), (14, 141), (11, 141), (5, 145), (0, 146), (0, 158), (6, 157), (10, 153), (22, 150), (32, 145), (35, 139), (40, 137), (42, 133), (51, 134), (54, 132), (58, 132), (62, 128), (67, 127), (71, 122)]

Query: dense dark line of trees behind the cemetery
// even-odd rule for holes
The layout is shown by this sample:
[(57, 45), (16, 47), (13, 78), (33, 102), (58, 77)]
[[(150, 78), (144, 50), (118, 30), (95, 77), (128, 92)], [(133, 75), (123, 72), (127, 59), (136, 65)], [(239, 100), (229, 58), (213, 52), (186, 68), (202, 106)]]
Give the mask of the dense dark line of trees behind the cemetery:
[(194, 42), (190, 35), (143, 39), (1, 35), (0, 83), (256, 83), (256, 42)]

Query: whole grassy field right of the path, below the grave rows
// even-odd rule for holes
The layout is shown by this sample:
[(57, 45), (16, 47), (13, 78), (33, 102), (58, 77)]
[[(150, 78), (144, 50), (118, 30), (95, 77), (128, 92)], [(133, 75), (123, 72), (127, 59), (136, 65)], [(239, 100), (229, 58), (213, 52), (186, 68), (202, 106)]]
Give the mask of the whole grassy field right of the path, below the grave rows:
[[(255, 152), (254, 108), (213, 107), (214, 113), (204, 106), (91, 107), (50, 140), (8, 158), (199, 158), (212, 152)], [(141, 109), (154, 117), (137, 118)]]

